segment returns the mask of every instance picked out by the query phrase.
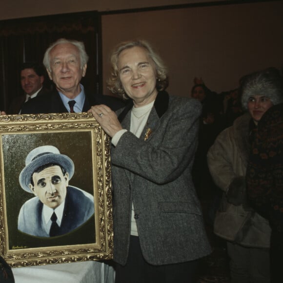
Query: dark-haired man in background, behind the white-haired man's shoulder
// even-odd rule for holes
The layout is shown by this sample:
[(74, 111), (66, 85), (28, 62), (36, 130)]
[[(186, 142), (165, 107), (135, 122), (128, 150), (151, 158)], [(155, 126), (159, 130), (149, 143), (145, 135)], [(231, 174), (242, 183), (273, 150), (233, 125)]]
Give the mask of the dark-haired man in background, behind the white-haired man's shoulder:
[(36, 62), (25, 62), (20, 66), (20, 84), (23, 95), (16, 97), (10, 104), (7, 114), (19, 114), (26, 101), (41, 95), (47, 95), (49, 90), (43, 87), (44, 68)]

